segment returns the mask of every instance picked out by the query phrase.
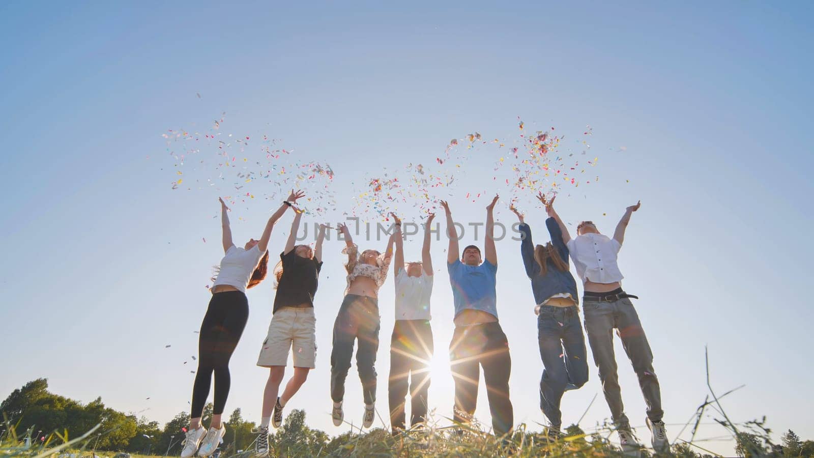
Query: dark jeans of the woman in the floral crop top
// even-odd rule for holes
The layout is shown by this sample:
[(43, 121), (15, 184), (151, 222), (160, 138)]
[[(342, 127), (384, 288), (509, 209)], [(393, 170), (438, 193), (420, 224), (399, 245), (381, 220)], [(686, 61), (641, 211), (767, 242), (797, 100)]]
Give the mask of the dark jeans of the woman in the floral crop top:
[(376, 351), (379, 350), (379, 301), (374, 297), (345, 296), (334, 322), (334, 348), (330, 352), (330, 397), (335, 403), (345, 395), (345, 378), (351, 368), (353, 341), (359, 340), (357, 369), (365, 404), (376, 401)]

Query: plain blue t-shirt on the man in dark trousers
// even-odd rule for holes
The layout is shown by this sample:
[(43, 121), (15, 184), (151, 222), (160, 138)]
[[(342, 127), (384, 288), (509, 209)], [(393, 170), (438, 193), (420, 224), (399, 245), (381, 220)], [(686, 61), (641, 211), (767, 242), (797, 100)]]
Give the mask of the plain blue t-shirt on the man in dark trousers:
[(449, 283), (453, 287), (455, 316), (466, 309), (483, 310), (497, 318), (497, 266), (484, 261), (480, 266), (467, 266), (460, 259), (447, 263)]

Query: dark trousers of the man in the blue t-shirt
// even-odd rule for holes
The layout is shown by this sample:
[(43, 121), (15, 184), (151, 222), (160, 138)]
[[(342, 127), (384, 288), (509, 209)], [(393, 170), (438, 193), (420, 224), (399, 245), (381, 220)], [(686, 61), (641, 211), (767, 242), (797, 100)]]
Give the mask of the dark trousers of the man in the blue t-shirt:
[(494, 322), (457, 326), (449, 343), (449, 363), (455, 381), (453, 420), (466, 422), (475, 413), (480, 366), (483, 366), (492, 429), (497, 436), (511, 433), (514, 425), (514, 410), (509, 399), (511, 357), (501, 325)]

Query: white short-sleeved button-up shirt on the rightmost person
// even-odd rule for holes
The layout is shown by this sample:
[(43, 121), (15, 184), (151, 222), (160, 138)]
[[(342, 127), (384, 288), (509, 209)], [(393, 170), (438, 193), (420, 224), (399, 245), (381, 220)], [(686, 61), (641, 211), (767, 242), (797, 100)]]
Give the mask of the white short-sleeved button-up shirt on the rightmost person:
[(568, 240), (568, 251), (580, 279), (593, 283), (615, 283), (624, 276), (616, 264), (622, 245), (615, 239), (591, 232)]

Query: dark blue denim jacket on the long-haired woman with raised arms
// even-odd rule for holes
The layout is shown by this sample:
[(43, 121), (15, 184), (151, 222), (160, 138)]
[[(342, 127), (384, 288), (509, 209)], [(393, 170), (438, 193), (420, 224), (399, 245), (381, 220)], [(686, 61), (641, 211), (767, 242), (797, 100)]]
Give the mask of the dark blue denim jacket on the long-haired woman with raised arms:
[[(549, 228), (549, 235), (551, 236), (551, 243), (557, 249), (560, 258), (568, 264), (568, 247), (562, 243), (562, 231), (554, 218), (545, 220), (545, 226)], [(546, 275), (541, 275), (540, 265), (537, 264), (534, 258), (534, 242), (532, 241), (532, 228), (523, 223), (519, 227), (522, 235), (520, 242), (520, 254), (523, 255), (523, 264), (526, 266), (526, 275), (532, 280), (532, 292), (534, 293), (534, 300), (539, 305), (545, 302), (549, 297), (558, 293), (569, 293), (575, 301), (579, 301), (579, 296), (576, 293), (576, 281), (571, 271), (560, 271), (551, 259), (546, 259), (548, 272)], [(570, 265), (569, 265), (570, 266)]]

